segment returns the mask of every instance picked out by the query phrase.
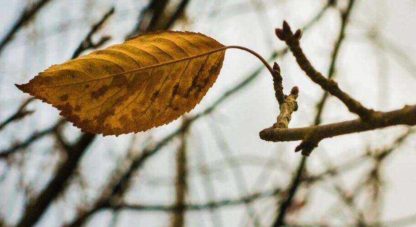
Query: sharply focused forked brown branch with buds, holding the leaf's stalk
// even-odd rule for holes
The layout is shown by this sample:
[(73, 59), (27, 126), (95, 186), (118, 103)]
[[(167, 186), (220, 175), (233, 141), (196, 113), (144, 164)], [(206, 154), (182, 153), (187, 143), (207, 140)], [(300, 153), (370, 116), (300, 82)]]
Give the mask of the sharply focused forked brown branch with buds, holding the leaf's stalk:
[[(272, 127), (260, 132), (261, 139), (273, 142), (302, 140), (302, 143), (295, 148), (295, 151), (302, 150), (303, 155), (309, 156), (312, 150), (318, 146), (318, 143), (325, 138), (396, 125), (416, 125), (416, 105), (406, 105), (401, 109), (388, 112), (374, 111), (364, 107), (359, 101), (342, 91), (335, 81), (322, 76), (320, 72), (315, 70), (300, 47), (301, 30), (298, 29), (293, 33), (289, 25), (283, 22), (283, 28), (276, 29), (276, 35), (280, 40), (286, 42), (300, 68), (313, 82), (341, 100), (349, 111), (356, 113), (360, 118), (334, 124), (289, 129), (288, 124), (291, 119), (291, 113), (297, 108), (296, 97), (298, 97), (298, 90), (294, 87), (289, 96), (284, 96), (284, 100), (279, 97), (280, 95), (278, 94), (282, 90), (282, 79), (279, 69), (278, 76), (280, 78), (274, 77), (273, 82), (276, 98), (279, 101), (280, 113), (277, 122)], [(292, 98), (290, 99), (289, 97)]]

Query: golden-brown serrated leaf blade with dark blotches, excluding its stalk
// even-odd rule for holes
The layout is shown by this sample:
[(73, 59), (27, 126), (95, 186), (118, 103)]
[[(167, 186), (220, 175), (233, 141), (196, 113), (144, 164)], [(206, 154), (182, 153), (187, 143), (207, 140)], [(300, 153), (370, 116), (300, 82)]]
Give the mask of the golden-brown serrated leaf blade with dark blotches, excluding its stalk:
[(146, 33), (52, 66), (17, 87), (83, 131), (140, 132), (193, 109), (215, 82), (224, 53), (200, 33)]

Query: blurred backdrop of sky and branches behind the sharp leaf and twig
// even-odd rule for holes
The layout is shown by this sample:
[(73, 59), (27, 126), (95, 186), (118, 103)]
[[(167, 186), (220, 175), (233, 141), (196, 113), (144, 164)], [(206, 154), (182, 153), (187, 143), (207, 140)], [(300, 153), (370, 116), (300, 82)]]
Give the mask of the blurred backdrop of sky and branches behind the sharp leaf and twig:
[(274, 29), (283, 20), (303, 28), (301, 45), (324, 76), (365, 105), (391, 110), (416, 102), (416, 1), (0, 6), (0, 226), (416, 226), (415, 128), (326, 139), (309, 158), (294, 153), (298, 142), (265, 142), (258, 133), (278, 114), (272, 79), (244, 51), (227, 50), (218, 80), (194, 110), (138, 134), (83, 134), (14, 86), (139, 33), (188, 30), (278, 62), (285, 93), (300, 88), (289, 127), (350, 120), (333, 97), (318, 115), (323, 91)]

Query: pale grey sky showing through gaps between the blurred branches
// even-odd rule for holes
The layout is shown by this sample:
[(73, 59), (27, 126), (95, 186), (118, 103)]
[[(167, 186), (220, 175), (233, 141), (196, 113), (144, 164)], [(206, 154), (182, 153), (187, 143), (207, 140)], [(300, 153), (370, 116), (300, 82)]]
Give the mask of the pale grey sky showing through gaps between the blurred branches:
[[(27, 1), (0, 0), (0, 37), (17, 18)], [(111, 6), (115, 14), (102, 29), (102, 33), (112, 36), (110, 42), (121, 43), (134, 26), (140, 9), (147, 1), (134, 0), (53, 0), (30, 23), (20, 31), (14, 41), (0, 55), (0, 119), (9, 116), (27, 98), (27, 94), (15, 88), (15, 83), (27, 82), (38, 72), (52, 64), (59, 64), (70, 58), (79, 41), (85, 36), (92, 23)], [(244, 3), (247, 2), (247, 5)], [(305, 25), (322, 8), (326, 1), (280, 0), (251, 1), (262, 2), (263, 10), (256, 11), (250, 1), (192, 0), (187, 10), (188, 22), (178, 24), (174, 30), (190, 30), (209, 35), (225, 45), (242, 45), (256, 50), (267, 58), (274, 49), (284, 47), (277, 40), (274, 28), (287, 20), (293, 28)], [(338, 0), (341, 4), (345, 0)], [(241, 7), (241, 6), (245, 7)], [(239, 6), (239, 7), (236, 7)], [(416, 102), (416, 2), (410, 0), (357, 0), (351, 15), (351, 22), (346, 29), (345, 39), (337, 62), (336, 80), (340, 87), (367, 106), (390, 110), (404, 104)], [(323, 17), (302, 38), (302, 46), (314, 66), (324, 75), (327, 72), (329, 56), (339, 29), (339, 16), (334, 9), (328, 10)], [(369, 30), (379, 33), (385, 50), (380, 49), (367, 36)], [(410, 63), (405, 63), (403, 54)], [(315, 104), (321, 97), (321, 89), (313, 84), (299, 69), (291, 54), (276, 60), (281, 67), (285, 92), (292, 86), (299, 86), (299, 110), (292, 116), (290, 127), (313, 124)], [(413, 64), (413, 65), (411, 65)], [(201, 103), (189, 114), (193, 115), (209, 106), (224, 91), (232, 87), (246, 75), (250, 74), (260, 62), (254, 56), (240, 50), (227, 50), (221, 73)], [(413, 68), (412, 68), (413, 67)], [(0, 148), (10, 145), (10, 141), (26, 138), (33, 129), (50, 126), (58, 118), (58, 111), (50, 105), (36, 101), (30, 104), (35, 113), (1, 132)], [(224, 156), (216, 136), (223, 134), (230, 152), (235, 156), (256, 157), (260, 160), (279, 158), (289, 165), (290, 169), (282, 171), (279, 167), (267, 171), (268, 178), (262, 184), (256, 184), (257, 178), (264, 172), (264, 164), (243, 164), (248, 191), (271, 189), (273, 186), (286, 187), (291, 172), (298, 164), (301, 155), (294, 153), (298, 142), (270, 143), (260, 140), (258, 133), (271, 126), (278, 113), (274, 98), (272, 80), (267, 70), (246, 89), (229, 98), (218, 106), (214, 113), (199, 120), (191, 128), (189, 160), (191, 166), (201, 162), (201, 155), (208, 163), (223, 161)], [(330, 98), (324, 111), (324, 123), (353, 119), (354, 116), (335, 98)], [(167, 126), (137, 134), (137, 146), (142, 146), (151, 137), (158, 141), (168, 132), (176, 129), (180, 121)], [(66, 126), (69, 138), (75, 138), (79, 130)], [(367, 147), (381, 148), (389, 145), (396, 136), (405, 131), (404, 127), (395, 127), (361, 134), (336, 137), (324, 140), (309, 158), (308, 169), (320, 173), (326, 168), (325, 160), (340, 164), (363, 153)], [(95, 196), (102, 184), (108, 180), (108, 173), (115, 165), (115, 159), (124, 155), (125, 148), (133, 134), (99, 136), (90, 147), (81, 162), (83, 176), (90, 182), (89, 196)], [(31, 146), (25, 153), (24, 182), (33, 184), (33, 190), (40, 190), (48, 181), (55, 167), (58, 155), (51, 154), (51, 138), (45, 138)], [(382, 219), (393, 220), (416, 214), (416, 137), (410, 136), (407, 142), (396, 149), (394, 157), (384, 166), (386, 188), (383, 192), (384, 202)], [(171, 203), (174, 176), (175, 150), (178, 141), (161, 150), (148, 161), (132, 187), (126, 200), (143, 204)], [(281, 165), (276, 162), (276, 165)], [(364, 163), (342, 175), (341, 185), (352, 189), (361, 176), (368, 170), (369, 163)], [(225, 166), (226, 167), (226, 166)], [(23, 207), (23, 194), (16, 191), (19, 184), (19, 172), (7, 167), (0, 161), (0, 173), (6, 171), (5, 180), (0, 183), (0, 214), (8, 223), (19, 218)], [(207, 201), (206, 186), (198, 169), (190, 178), (189, 201), (198, 203)], [(223, 168), (212, 174), (217, 199), (238, 197), (241, 189), (237, 188), (232, 172)], [(155, 186), (162, 181), (161, 186)], [(339, 201), (328, 180), (313, 186), (310, 190), (310, 201), (296, 219), (300, 222), (327, 220), (328, 210), (339, 209), (348, 214), (348, 209)], [(69, 221), (74, 215), (74, 207), (83, 201), (82, 195), (74, 186), (61, 196), (48, 209), (36, 226), (58, 226)], [(302, 193), (302, 192), (301, 192)], [(361, 197), (359, 197), (361, 198)], [(334, 202), (340, 203), (334, 207)], [(363, 202), (364, 198), (359, 201)], [(264, 226), (271, 223), (275, 215), (275, 201), (264, 199), (254, 203), (261, 215)], [(202, 214), (202, 215), (201, 215)], [(334, 218), (333, 223), (348, 222), (348, 216)], [(224, 226), (240, 226), (241, 218), (247, 216), (243, 206), (231, 206), (221, 209)], [(342, 215), (340, 215), (342, 217)], [(190, 212), (187, 215), (188, 226), (196, 223), (210, 222), (208, 211)], [(98, 213), (87, 226), (106, 226), (111, 219), (108, 211)], [(117, 226), (164, 226), (169, 215), (162, 212), (122, 212)], [(210, 226), (201, 225), (201, 226)], [(416, 223), (413, 225), (416, 226)]]

